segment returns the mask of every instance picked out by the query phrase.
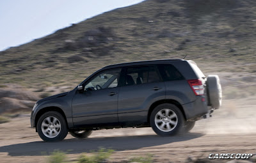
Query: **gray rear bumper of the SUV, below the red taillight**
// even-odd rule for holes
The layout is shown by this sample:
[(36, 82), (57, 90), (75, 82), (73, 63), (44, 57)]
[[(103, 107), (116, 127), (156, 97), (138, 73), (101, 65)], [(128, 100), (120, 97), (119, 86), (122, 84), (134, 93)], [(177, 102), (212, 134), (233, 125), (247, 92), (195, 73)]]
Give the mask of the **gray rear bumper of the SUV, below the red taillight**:
[(196, 96), (194, 102), (182, 105), (186, 120), (195, 121), (208, 113), (207, 100), (205, 96)]

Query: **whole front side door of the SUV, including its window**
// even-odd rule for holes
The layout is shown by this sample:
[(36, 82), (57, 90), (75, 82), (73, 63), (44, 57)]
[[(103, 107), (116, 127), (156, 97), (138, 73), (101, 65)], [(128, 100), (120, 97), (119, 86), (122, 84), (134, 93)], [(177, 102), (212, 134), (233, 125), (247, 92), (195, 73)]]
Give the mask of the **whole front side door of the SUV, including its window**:
[(118, 81), (122, 68), (103, 70), (83, 84), (72, 100), (74, 127), (118, 125)]

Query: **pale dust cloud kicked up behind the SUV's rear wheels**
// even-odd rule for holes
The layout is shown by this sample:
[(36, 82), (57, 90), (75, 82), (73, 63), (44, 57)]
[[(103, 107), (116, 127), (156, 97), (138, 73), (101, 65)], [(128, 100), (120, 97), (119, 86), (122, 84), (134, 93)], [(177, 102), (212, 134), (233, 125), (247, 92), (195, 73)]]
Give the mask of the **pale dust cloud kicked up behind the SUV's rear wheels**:
[(248, 134), (256, 132), (256, 97), (223, 100), (212, 118), (196, 122), (192, 132), (204, 134)]

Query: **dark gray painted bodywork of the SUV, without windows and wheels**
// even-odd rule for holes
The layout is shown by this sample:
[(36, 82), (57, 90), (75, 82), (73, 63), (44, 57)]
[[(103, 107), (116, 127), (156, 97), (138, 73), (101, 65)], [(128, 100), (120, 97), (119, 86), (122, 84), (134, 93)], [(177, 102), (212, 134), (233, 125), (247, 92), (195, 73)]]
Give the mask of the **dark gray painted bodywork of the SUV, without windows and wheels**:
[[(98, 72), (109, 68), (156, 64), (172, 64), (184, 75), (186, 80), (198, 79), (188, 61), (165, 59), (109, 65), (90, 75), (81, 84)], [(69, 128), (141, 125), (147, 123), (150, 105), (164, 99), (179, 102), (184, 109), (186, 118), (195, 120), (207, 113), (207, 102), (202, 102), (203, 96), (195, 96), (186, 80), (121, 86), (84, 93), (77, 92), (76, 87), (68, 93), (39, 100), (35, 111), (31, 113), (31, 126), (35, 127), (36, 114), (45, 107), (60, 107), (65, 113)], [(162, 89), (153, 91), (152, 88), (155, 86)], [(108, 93), (112, 91), (117, 94), (109, 96)]]

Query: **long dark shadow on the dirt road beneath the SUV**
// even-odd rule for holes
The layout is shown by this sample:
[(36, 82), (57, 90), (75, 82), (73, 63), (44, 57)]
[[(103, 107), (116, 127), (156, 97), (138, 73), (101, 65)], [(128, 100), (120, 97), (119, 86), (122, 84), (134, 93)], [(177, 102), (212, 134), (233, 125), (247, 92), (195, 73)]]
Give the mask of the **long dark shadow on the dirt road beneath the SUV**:
[(67, 153), (83, 153), (99, 148), (111, 148), (115, 151), (136, 150), (139, 148), (159, 146), (173, 142), (188, 141), (204, 136), (201, 133), (188, 133), (172, 137), (160, 137), (157, 135), (146, 136), (122, 136), (122, 137), (100, 137), (88, 139), (65, 139), (55, 143), (35, 141), (29, 143), (12, 144), (1, 146), (0, 152), (8, 152), (11, 156), (35, 156), (49, 155), (54, 150), (67, 151)]

